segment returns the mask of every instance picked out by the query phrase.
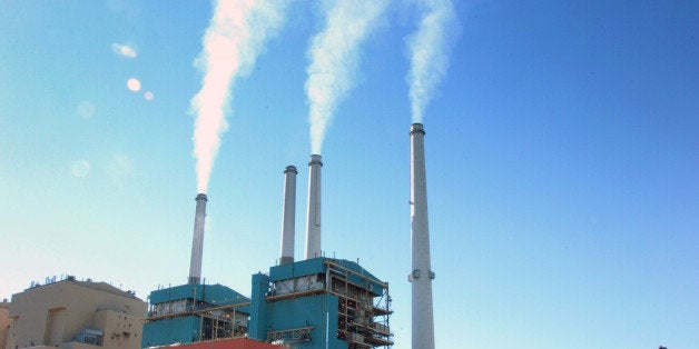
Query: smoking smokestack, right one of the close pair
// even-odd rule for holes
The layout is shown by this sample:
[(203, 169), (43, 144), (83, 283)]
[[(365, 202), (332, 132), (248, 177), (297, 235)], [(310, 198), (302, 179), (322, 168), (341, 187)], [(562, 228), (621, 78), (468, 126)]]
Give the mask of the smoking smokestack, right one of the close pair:
[(306, 259), (322, 257), (321, 251), (321, 156), (308, 162), (308, 219), (306, 220)]

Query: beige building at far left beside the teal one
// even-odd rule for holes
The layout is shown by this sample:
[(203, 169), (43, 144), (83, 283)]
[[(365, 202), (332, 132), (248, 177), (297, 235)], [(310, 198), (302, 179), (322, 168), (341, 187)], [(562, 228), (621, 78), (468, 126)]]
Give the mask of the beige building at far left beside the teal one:
[(66, 280), (12, 296), (4, 349), (140, 348), (147, 305), (105, 282)]

